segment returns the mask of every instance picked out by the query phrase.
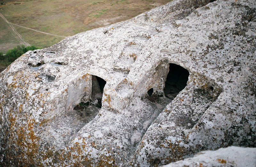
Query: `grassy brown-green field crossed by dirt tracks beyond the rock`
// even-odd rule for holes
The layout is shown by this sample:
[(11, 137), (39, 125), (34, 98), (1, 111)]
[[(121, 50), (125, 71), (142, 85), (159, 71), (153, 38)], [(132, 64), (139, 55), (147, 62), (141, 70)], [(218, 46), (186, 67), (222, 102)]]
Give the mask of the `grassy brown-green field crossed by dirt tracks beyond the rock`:
[[(97, 27), (131, 19), (172, 0), (0, 0), (0, 12), (11, 23), (46, 33), (71, 36)], [(0, 50), (4, 53), (22, 44), (0, 18)], [(13, 26), (30, 45), (49, 47), (63, 37)]]

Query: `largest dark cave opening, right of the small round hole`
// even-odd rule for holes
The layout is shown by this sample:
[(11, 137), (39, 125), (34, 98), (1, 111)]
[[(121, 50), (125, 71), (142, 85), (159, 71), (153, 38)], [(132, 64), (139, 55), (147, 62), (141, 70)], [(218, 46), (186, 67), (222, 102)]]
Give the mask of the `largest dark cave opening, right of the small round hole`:
[(164, 95), (174, 99), (187, 86), (189, 72), (176, 64), (169, 64), (169, 72), (165, 81)]

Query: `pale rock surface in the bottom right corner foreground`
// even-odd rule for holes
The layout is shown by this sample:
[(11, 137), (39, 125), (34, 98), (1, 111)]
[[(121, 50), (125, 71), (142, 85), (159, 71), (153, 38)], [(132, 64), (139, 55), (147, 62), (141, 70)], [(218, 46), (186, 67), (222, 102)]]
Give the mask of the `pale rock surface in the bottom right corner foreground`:
[(256, 148), (228, 147), (216, 151), (202, 151), (192, 158), (173, 162), (163, 167), (186, 167), (186, 166), (256, 166)]

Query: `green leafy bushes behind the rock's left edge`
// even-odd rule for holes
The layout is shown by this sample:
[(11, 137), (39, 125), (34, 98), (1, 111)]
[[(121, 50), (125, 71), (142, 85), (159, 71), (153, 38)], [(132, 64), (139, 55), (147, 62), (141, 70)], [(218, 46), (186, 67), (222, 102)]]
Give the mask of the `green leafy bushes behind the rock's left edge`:
[(7, 50), (5, 55), (2, 51), (0, 51), (0, 61), (5, 62), (5, 64), (11, 64), (14, 62), (18, 57), (23, 55), (29, 50), (36, 50), (36, 49), (42, 49), (41, 47), (36, 46), (28, 46), (25, 47), (25, 45), (14, 47), (13, 49)]

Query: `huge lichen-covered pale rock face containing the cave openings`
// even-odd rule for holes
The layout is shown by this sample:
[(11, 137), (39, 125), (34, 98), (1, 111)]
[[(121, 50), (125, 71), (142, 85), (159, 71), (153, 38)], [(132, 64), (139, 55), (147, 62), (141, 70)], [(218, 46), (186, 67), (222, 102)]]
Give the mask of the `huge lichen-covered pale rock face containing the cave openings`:
[(256, 2), (174, 0), (0, 73), (3, 166), (157, 166), (256, 147)]

